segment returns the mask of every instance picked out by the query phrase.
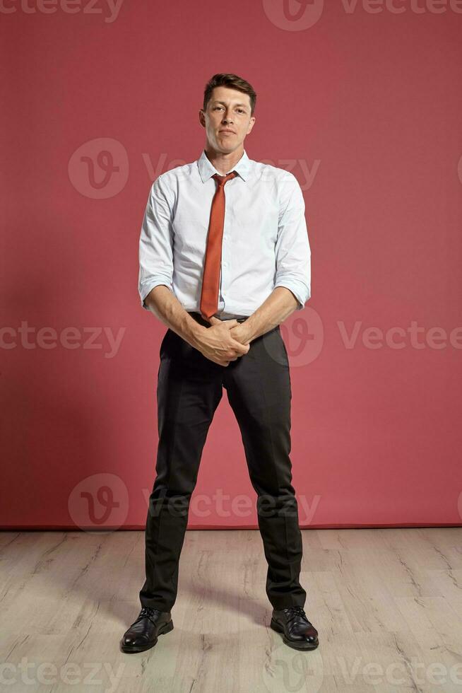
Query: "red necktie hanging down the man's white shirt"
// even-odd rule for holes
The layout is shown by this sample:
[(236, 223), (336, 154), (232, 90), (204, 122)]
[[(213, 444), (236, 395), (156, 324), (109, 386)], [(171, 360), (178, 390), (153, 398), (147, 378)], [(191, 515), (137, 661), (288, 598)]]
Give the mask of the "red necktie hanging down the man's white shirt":
[(218, 310), (221, 247), (225, 225), (225, 182), (236, 176), (236, 171), (231, 171), (227, 175), (215, 173), (212, 176), (218, 182), (218, 186), (212, 200), (201, 293), (201, 314), (207, 320)]

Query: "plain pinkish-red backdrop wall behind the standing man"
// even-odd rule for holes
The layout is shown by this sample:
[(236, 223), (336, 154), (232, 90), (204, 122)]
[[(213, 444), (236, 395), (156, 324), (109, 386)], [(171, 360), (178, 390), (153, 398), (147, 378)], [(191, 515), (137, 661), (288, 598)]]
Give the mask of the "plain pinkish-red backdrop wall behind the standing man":
[[(462, 8), (398, 5), (4, 8), (3, 528), (144, 527), (167, 328), (139, 231), (220, 71), (258, 94), (247, 153), (306, 202), (312, 298), (282, 327), (300, 524), (461, 524)], [(254, 506), (224, 391), (189, 527), (256, 527)]]

